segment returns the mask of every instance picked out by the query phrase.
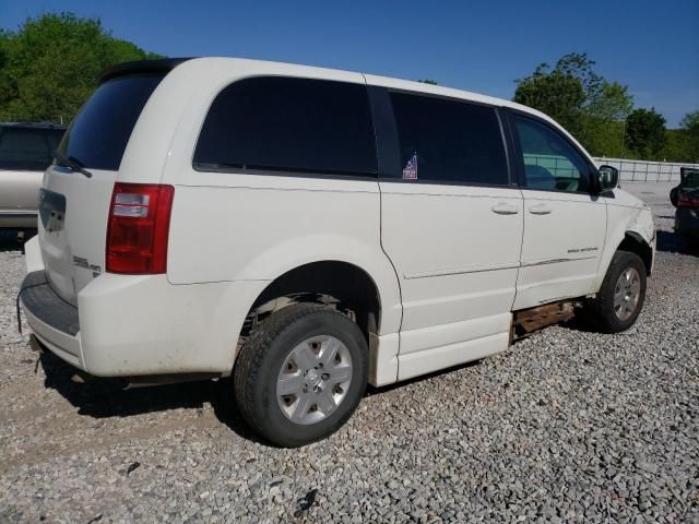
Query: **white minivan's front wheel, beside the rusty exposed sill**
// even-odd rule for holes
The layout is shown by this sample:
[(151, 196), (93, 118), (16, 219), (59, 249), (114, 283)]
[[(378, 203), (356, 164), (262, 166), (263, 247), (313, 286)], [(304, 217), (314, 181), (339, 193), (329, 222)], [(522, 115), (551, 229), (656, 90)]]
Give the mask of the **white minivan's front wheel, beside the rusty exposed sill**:
[(638, 318), (645, 300), (645, 265), (628, 251), (614, 253), (600, 293), (585, 307), (592, 327), (603, 333), (628, 330)]

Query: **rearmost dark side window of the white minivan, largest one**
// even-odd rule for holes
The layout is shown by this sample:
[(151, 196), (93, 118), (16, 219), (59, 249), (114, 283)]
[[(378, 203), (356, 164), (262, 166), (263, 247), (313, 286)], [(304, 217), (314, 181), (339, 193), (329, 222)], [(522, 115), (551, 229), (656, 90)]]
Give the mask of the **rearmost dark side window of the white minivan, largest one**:
[(376, 176), (366, 86), (283, 76), (235, 82), (209, 109), (193, 167)]

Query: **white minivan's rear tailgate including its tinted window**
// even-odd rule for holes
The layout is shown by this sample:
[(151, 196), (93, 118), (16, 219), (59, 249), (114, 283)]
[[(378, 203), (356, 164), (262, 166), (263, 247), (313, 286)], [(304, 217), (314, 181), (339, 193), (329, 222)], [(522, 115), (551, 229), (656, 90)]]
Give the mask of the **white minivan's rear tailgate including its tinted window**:
[(39, 243), (47, 278), (66, 301), (105, 267), (111, 191), (131, 132), (164, 73), (110, 78), (80, 110), (59, 146), (92, 174), (50, 166), (39, 202)]

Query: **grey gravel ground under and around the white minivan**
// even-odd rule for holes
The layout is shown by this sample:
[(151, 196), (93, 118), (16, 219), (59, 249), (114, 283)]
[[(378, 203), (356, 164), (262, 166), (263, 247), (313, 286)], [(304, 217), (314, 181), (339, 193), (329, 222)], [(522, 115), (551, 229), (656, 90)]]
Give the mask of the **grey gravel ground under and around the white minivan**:
[(631, 330), (549, 327), (372, 390), (300, 450), (226, 416), (221, 384), (122, 392), (37, 360), (5, 242), (0, 521), (699, 522), (699, 253), (670, 233), (666, 199), (649, 200), (661, 250)]

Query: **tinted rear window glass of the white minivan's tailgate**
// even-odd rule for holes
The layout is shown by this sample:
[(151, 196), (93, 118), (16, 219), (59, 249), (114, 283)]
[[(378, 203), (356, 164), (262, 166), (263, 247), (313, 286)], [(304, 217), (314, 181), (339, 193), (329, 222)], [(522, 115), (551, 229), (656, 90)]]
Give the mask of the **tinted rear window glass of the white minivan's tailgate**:
[(60, 151), (85, 167), (116, 171), (131, 131), (163, 74), (118, 76), (97, 87), (68, 128)]

